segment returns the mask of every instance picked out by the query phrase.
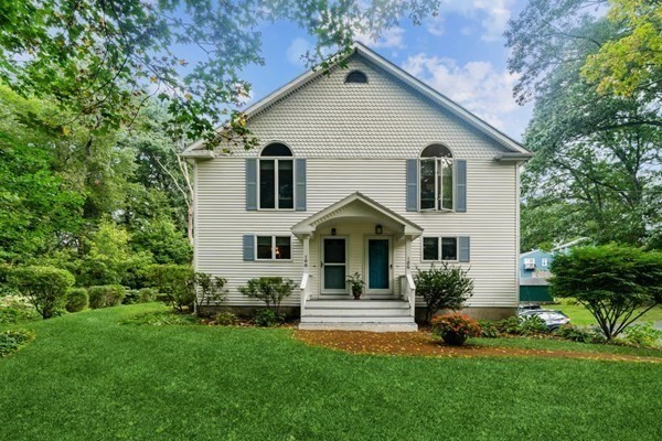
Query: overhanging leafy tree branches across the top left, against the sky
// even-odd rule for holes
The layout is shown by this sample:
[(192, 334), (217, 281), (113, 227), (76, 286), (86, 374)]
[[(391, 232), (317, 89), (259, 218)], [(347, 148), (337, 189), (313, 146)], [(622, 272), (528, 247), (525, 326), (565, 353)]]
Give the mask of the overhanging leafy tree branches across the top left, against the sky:
[[(237, 108), (250, 93), (243, 69), (264, 64), (259, 25), (289, 20), (317, 37), (310, 65), (329, 67), (329, 47), (349, 54), (354, 34), (378, 35), (403, 17), (419, 23), (437, 1), (8, 3), (0, 28), (0, 79), (23, 95), (54, 96), (95, 132), (134, 120), (152, 95), (169, 112), (168, 135), (254, 146)], [(339, 19), (342, 18), (342, 19)], [(95, 25), (90, 25), (95, 23)], [(191, 25), (194, 23), (194, 25)], [(98, 24), (98, 25), (97, 25)], [(190, 47), (204, 56), (190, 60)], [(30, 54), (30, 56), (25, 56)], [(215, 131), (227, 119), (228, 131)], [(237, 140), (238, 139), (238, 140)], [(253, 142), (252, 142), (253, 141)]]

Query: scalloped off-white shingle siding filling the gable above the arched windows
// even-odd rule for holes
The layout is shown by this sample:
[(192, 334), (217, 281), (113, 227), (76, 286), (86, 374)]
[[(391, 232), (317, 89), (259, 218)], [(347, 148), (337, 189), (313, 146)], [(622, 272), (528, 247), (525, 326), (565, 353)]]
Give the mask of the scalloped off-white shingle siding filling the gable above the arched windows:
[(250, 130), (263, 146), (284, 141), (306, 158), (418, 158), (433, 142), (466, 159), (492, 159), (505, 151), (362, 58), (353, 57), (350, 68), (365, 72), (370, 83), (346, 85), (349, 71), (337, 68), (252, 118)]

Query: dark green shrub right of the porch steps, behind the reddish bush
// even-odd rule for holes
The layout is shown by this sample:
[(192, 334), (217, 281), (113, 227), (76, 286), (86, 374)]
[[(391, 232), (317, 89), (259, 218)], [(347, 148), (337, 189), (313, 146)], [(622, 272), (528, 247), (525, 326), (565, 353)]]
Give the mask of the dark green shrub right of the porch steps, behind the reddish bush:
[(473, 280), (469, 270), (446, 262), (440, 268), (434, 265), (428, 270), (417, 268), (414, 281), (416, 294), (427, 304), (427, 319), (439, 310), (461, 310), (465, 302), (473, 295)]

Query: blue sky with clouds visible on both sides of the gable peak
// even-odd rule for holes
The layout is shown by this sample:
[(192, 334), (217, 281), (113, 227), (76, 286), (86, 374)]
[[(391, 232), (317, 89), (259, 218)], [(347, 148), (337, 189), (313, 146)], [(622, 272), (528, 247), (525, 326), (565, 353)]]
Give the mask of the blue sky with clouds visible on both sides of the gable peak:
[[(525, 0), (441, 0), (439, 15), (387, 30), (377, 42), (357, 40), (511, 137), (521, 140), (532, 106), (512, 98), (516, 77), (505, 67), (503, 32)], [(259, 99), (306, 71), (300, 56), (313, 39), (291, 23), (263, 28), (264, 66), (250, 66), (245, 78)]]

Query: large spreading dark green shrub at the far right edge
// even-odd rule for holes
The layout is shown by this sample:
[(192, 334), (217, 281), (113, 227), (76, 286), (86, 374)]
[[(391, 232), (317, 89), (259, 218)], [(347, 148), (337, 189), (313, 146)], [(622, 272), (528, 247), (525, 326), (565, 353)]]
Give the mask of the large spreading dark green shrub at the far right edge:
[(617, 245), (575, 248), (555, 258), (552, 272), (553, 295), (586, 306), (608, 341), (662, 302), (662, 252)]

